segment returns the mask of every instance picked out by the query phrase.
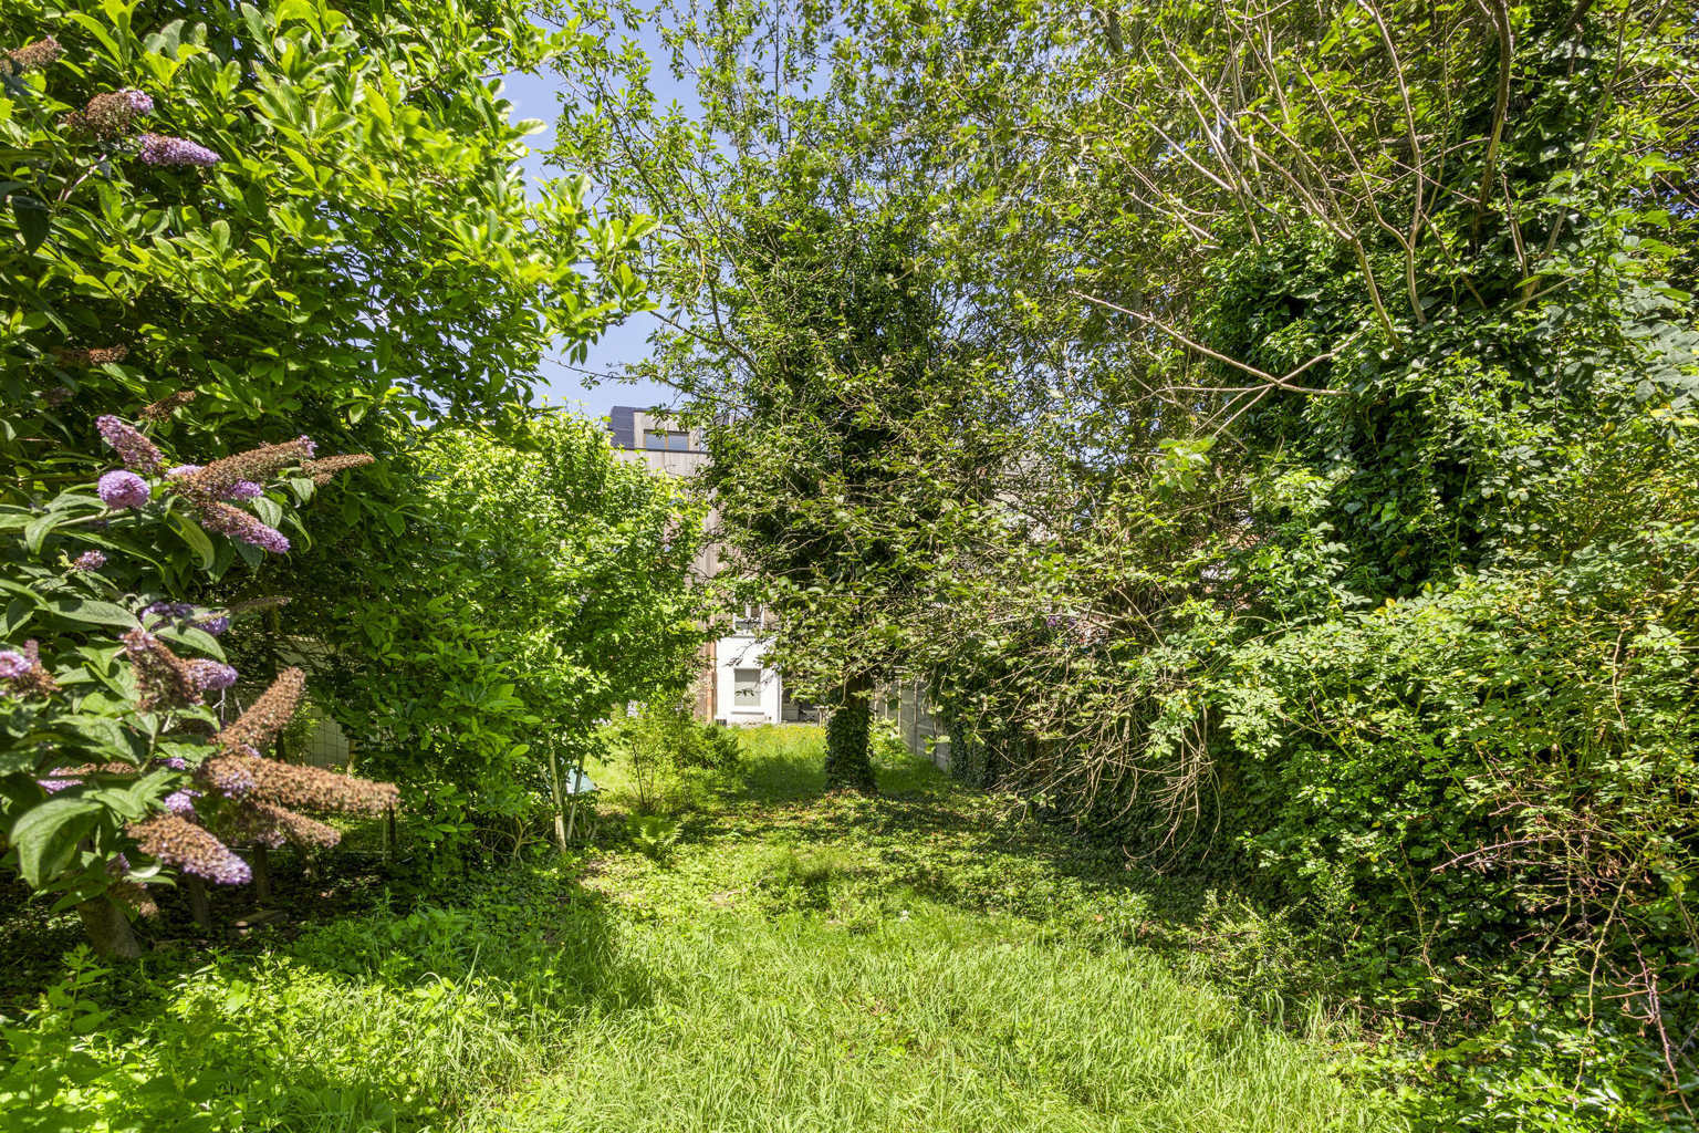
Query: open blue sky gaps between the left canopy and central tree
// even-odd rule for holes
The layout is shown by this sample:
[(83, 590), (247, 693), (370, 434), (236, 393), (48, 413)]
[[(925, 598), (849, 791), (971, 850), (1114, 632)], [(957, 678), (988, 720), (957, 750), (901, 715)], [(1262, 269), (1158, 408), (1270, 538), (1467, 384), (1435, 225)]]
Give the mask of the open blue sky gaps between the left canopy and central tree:
[[(637, 39), (644, 42), (649, 37), (639, 36)], [(647, 42), (644, 46), (649, 48)], [(651, 54), (654, 54), (652, 49)], [(666, 68), (659, 68), (654, 85), (656, 95), (663, 100), (678, 99), (686, 105), (695, 102), (691, 97), (695, 92), (678, 88), (671, 75), (666, 73)], [(561, 175), (561, 170), (545, 168), (542, 160), (542, 153), (554, 146), (554, 126), (561, 117), (559, 78), (552, 71), (539, 75), (511, 73), (505, 78), (501, 93), (513, 104), (513, 121), (535, 117), (547, 122), (547, 127), (540, 134), (532, 134), (525, 139), (532, 149), (530, 156), (522, 161), (525, 178), (535, 183), (540, 178)], [(654, 326), (654, 318), (644, 314), (627, 319), (622, 326), (608, 328), (598, 341), (590, 345), (590, 358), (583, 369), (618, 374), (627, 364), (641, 362), (649, 357), (646, 340)], [(673, 391), (649, 382), (625, 384), (603, 380), (595, 389), (586, 389), (584, 375), (557, 358), (544, 362), (540, 377), (549, 401), (578, 403), (590, 416), (607, 416), (608, 408), (617, 404), (652, 406), (673, 403)]]

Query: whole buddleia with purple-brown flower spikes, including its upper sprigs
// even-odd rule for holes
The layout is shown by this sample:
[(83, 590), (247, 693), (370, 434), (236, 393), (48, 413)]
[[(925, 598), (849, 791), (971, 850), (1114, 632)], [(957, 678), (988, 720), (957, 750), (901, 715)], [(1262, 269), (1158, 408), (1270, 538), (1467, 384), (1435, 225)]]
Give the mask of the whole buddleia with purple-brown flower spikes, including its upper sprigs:
[[(61, 58), (54, 39), (41, 39), (0, 61), (17, 116), (5, 138), (27, 175), (5, 185), (19, 240), (7, 255), (25, 262), (44, 246), (75, 262), (88, 233), (134, 207), (117, 165), (194, 177), (223, 160), (146, 131), (158, 107), (134, 88), (58, 110), (44, 75)], [(25, 279), (15, 267), (7, 262), (5, 279)], [(51, 316), (24, 321), (66, 335), (53, 353), (61, 372), (127, 357), (122, 345), (73, 345)], [(323, 846), (336, 831), (299, 809), (369, 814), (394, 803), (392, 786), (267, 759), (304, 674), (279, 673), (226, 720), (238, 673), (219, 639), (253, 606), (180, 600), (238, 561), (287, 554), (285, 528), (306, 533), (294, 504), (370, 457), (319, 459), (296, 437), (204, 465), (177, 462), (161, 433), (194, 391), (146, 404), (139, 426), (107, 413), (78, 437), (51, 414), (73, 387), (39, 389), (29, 433), (8, 430), (31, 457), (0, 491), (0, 849), (31, 888), (78, 909), (99, 950), (134, 955), (127, 916), (156, 910), (151, 887), (175, 877), (245, 883), (251, 870), (231, 841)], [(116, 467), (97, 472), (78, 450), (107, 454)]]

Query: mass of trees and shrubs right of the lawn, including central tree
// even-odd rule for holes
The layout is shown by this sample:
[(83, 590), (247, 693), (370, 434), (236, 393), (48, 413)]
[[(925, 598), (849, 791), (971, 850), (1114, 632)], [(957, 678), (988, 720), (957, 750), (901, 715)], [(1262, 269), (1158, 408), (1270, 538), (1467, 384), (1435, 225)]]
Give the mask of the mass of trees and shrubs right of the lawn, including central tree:
[(924, 674), (975, 781), (1250, 878), (1432, 1125), (1691, 1125), (1691, 20), (659, 19), (702, 114), (588, 48), (642, 144), (561, 136), (683, 236), (647, 372), (731, 423), (783, 662)]

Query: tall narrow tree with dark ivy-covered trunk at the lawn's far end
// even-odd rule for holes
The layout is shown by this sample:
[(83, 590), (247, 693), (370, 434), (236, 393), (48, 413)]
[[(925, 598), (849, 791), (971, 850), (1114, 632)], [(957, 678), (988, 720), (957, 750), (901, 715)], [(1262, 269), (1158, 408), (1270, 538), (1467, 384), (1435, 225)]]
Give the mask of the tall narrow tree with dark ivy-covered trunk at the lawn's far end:
[(705, 431), (737, 591), (778, 615), (770, 656), (834, 708), (829, 780), (872, 788), (870, 698), (911, 666), (904, 612), (948, 544), (945, 501), (989, 486), (1004, 438), (955, 336), (924, 177), (844, 132), (833, 90), (809, 93), (822, 27), (746, 15), (678, 42), (715, 61), (693, 119), (652, 104), (641, 56), (562, 61), (620, 109), (567, 110), (557, 156), (659, 224), (646, 273), (668, 330), (641, 370)]

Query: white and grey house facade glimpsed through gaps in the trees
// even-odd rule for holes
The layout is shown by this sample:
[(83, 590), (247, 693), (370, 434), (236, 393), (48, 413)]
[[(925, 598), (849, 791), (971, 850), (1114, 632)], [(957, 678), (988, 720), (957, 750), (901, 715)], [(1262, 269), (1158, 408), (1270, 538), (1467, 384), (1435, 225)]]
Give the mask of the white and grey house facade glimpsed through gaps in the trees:
[[(708, 465), (708, 454), (697, 430), (685, 428), (661, 413), (635, 406), (613, 406), (608, 413), (613, 455), (644, 464), (666, 476), (690, 477)], [(708, 530), (719, 513), (708, 516)], [(720, 572), (720, 547), (712, 538), (697, 554), (691, 571), (708, 579)], [(782, 724), (812, 719), (807, 705), (785, 695), (785, 679), (768, 664), (766, 651), (773, 622), (761, 608), (748, 608), (727, 632), (702, 647), (695, 710), (700, 720), (720, 724)]]

